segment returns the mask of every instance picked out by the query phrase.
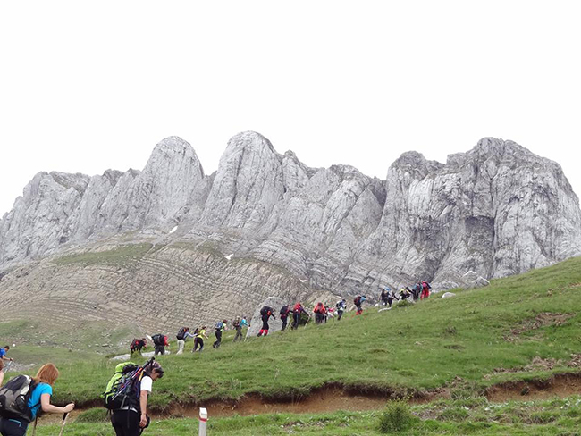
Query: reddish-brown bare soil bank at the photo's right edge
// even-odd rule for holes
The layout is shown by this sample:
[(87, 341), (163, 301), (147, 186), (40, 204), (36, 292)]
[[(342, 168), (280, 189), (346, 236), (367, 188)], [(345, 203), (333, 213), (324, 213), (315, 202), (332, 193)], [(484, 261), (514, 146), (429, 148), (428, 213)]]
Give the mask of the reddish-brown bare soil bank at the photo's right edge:
[(507, 381), (486, 390), (489, 401), (528, 401), (553, 397), (568, 397), (581, 393), (581, 374), (556, 374), (549, 380)]

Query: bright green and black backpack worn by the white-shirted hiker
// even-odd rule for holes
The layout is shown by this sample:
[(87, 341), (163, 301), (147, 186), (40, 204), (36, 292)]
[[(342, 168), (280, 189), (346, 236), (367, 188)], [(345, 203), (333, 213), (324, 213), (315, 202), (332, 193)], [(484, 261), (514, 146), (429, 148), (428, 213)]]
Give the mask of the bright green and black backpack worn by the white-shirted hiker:
[(140, 375), (143, 368), (133, 362), (123, 362), (115, 366), (115, 373), (107, 383), (103, 394), (104, 406), (110, 410), (118, 410), (129, 406), (139, 411)]

